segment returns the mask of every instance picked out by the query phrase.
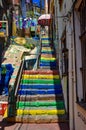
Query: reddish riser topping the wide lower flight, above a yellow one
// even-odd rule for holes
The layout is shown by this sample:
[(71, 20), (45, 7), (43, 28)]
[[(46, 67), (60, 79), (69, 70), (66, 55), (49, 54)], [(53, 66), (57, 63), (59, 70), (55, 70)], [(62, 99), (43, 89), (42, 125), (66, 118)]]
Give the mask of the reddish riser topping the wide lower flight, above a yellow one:
[(59, 75), (59, 72), (57, 71), (57, 70), (23, 70), (23, 74), (28, 74), (28, 75), (30, 75), (30, 74), (41, 74), (41, 75), (46, 75), (46, 74), (48, 74), (48, 75)]

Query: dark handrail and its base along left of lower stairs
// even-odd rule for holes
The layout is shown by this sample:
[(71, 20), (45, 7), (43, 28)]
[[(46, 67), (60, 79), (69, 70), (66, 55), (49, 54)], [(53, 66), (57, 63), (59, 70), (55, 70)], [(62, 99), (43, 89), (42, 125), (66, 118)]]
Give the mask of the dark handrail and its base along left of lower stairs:
[(23, 66), (24, 66), (24, 60), (21, 61), (14, 84), (9, 86), (8, 117), (15, 116), (15, 114), (16, 114), (17, 91), (18, 91), (18, 87), (19, 87), (20, 81), (21, 81)]

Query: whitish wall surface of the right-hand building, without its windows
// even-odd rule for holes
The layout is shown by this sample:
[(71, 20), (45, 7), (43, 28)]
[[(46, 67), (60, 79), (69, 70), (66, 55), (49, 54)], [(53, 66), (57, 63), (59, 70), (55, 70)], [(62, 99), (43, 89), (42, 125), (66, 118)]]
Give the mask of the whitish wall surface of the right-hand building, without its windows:
[[(81, 0), (80, 0), (81, 1)], [(66, 45), (68, 49), (69, 56), (69, 126), (70, 130), (85, 130), (86, 129), (86, 110), (84, 110), (80, 105), (77, 104), (77, 95), (79, 101), (83, 97), (82, 91), (82, 74), (80, 68), (82, 67), (81, 60), (81, 42), (80, 36), (80, 19), (77, 12), (75, 12), (75, 30), (73, 23), (73, 5), (74, 0), (64, 0), (62, 10), (59, 10), (59, 3), (57, 2), (57, 20), (58, 20), (58, 36), (59, 36), (59, 70), (62, 76), (62, 57), (61, 57), (61, 38), (66, 27)], [(67, 15), (71, 13), (69, 20), (59, 18), (59, 16)], [(74, 34), (75, 31), (75, 34)], [(75, 39), (74, 39), (75, 35)], [(76, 53), (75, 53), (76, 44)], [(75, 68), (75, 58), (76, 58), (76, 68)], [(75, 70), (76, 69), (76, 70)], [(76, 73), (77, 72), (77, 73)], [(77, 77), (77, 79), (76, 79)], [(77, 80), (77, 84), (76, 84)], [(62, 78), (62, 86), (64, 90), (64, 98), (66, 99), (65, 93), (65, 78)], [(76, 95), (77, 94), (77, 95)]]

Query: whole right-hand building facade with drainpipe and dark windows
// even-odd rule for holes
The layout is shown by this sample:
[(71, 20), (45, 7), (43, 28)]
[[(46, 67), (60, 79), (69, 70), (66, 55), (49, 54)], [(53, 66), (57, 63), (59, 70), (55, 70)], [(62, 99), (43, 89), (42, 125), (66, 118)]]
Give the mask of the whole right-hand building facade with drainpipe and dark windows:
[(70, 130), (86, 129), (86, 0), (54, 0), (57, 57)]

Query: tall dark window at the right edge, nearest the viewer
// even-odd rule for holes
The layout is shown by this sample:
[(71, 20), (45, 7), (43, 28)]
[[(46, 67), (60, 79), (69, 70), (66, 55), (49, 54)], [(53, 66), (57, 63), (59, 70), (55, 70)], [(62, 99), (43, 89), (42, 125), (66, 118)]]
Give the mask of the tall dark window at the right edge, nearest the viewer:
[(86, 102), (86, 0), (80, 5), (83, 101)]

